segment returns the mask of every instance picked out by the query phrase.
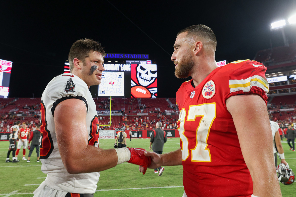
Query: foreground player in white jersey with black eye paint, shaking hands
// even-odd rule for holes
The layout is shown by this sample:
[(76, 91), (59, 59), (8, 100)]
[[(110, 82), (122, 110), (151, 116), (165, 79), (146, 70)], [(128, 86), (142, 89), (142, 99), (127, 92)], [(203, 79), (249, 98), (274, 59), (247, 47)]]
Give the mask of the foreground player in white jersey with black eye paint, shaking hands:
[(40, 160), (47, 176), (35, 197), (90, 197), (100, 171), (123, 162), (145, 169), (151, 163), (144, 149), (99, 148), (98, 114), (89, 87), (101, 83), (105, 55), (94, 40), (76, 41), (69, 53), (70, 73), (54, 77), (42, 94)]

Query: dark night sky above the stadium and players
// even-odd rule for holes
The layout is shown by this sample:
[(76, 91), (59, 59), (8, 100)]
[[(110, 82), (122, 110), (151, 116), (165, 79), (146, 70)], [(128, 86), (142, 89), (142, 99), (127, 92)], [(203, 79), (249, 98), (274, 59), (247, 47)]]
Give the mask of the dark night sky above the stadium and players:
[[(253, 59), (271, 43), (283, 45), (270, 23), (296, 13), (295, 0), (28, 2), (0, 3), (0, 59), (13, 61), (9, 97), (41, 97), (81, 38), (99, 41), (107, 53), (149, 54), (158, 66), (158, 97), (175, 97), (188, 80), (174, 76), (170, 61), (179, 30), (196, 24), (212, 28), (216, 61)], [(290, 43), (296, 42), (295, 32), (296, 27), (285, 29)]]

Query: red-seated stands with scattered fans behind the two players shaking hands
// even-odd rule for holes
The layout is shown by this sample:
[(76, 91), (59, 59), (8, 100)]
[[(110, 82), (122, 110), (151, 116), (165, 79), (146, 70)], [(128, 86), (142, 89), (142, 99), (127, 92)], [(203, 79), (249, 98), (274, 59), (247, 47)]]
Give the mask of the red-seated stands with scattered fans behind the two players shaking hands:
[[(17, 120), (39, 123), (40, 100), (41, 98), (0, 99), (0, 121), (3, 122), (2, 125), (0, 123), (0, 130), (6, 131), (7, 126), (11, 126)], [(175, 102), (176, 99), (171, 98), (170, 100)], [(110, 98), (95, 98), (94, 101), (99, 111), (100, 125), (109, 125)], [(122, 126), (126, 126), (127, 129), (152, 129), (155, 122), (160, 120), (171, 125), (171, 128), (176, 128), (175, 122), (178, 120), (178, 114), (173, 115), (176, 111), (170, 108), (165, 98), (112, 98), (111, 104), (111, 126), (103, 126), (104, 129), (115, 129)], [(165, 115), (166, 112), (172, 115)], [(104, 114), (100, 115), (100, 113)], [(117, 115), (121, 113), (122, 115)], [(136, 118), (138, 118), (138, 125)], [(140, 122), (141, 118), (142, 122)]]

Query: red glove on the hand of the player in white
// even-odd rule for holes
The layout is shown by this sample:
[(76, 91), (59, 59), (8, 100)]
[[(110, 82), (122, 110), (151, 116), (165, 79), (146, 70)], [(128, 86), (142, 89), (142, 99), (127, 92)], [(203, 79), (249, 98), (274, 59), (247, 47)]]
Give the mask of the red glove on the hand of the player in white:
[(143, 175), (145, 174), (147, 167), (151, 164), (151, 157), (146, 157), (144, 155), (144, 152), (146, 152), (145, 149), (139, 149), (139, 148), (128, 148), (131, 152), (131, 159), (128, 161), (128, 163), (140, 165), (144, 167)]

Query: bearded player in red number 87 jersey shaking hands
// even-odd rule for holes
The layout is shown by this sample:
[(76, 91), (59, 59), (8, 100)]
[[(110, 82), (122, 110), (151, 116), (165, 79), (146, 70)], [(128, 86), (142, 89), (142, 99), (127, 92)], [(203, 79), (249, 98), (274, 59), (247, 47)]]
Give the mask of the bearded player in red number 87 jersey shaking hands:
[(149, 168), (183, 165), (183, 196), (279, 197), (266, 67), (251, 60), (218, 67), (216, 43), (205, 25), (178, 32), (175, 75), (192, 77), (176, 93), (181, 148), (145, 153), (152, 157)]

